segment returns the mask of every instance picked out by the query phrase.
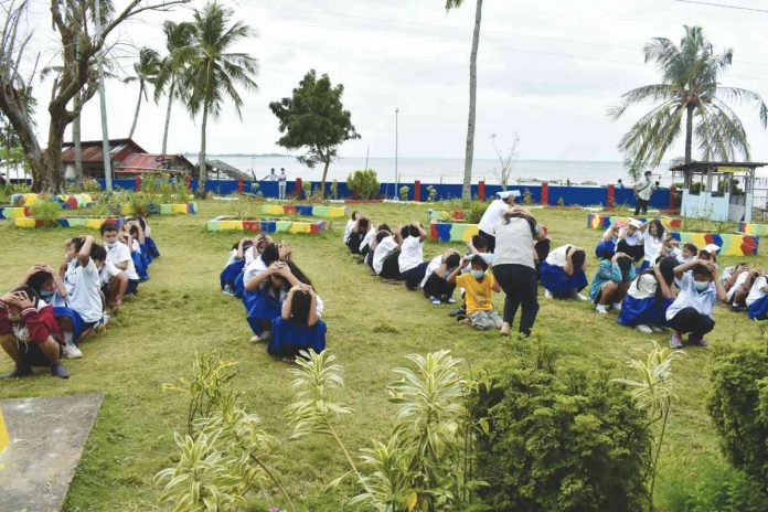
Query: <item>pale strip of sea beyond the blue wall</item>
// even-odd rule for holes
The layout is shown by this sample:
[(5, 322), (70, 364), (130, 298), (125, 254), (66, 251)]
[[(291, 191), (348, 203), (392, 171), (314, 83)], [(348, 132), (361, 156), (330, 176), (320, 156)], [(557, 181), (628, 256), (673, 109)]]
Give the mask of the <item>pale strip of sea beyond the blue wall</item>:
[[(196, 156), (188, 156), (196, 161)], [(320, 180), (322, 167), (309, 169), (299, 163), (295, 157), (248, 157), (248, 156), (215, 156), (209, 159), (222, 160), (241, 171), (253, 173), (257, 180), (269, 174), (270, 169), (277, 173), (286, 169), (289, 179)], [(472, 164), (472, 182), (484, 180), (486, 183), (499, 183), (499, 160), (474, 159)], [(328, 179), (346, 180), (346, 177), (359, 169), (373, 169), (380, 182), (414, 182), (423, 183), (461, 183), (463, 177), (463, 159), (460, 158), (339, 158), (331, 163)], [(672, 180), (666, 167), (661, 167), (655, 179), (662, 185), (671, 184)], [(541, 181), (562, 182), (568, 180), (573, 185), (594, 185), (616, 183), (617, 180), (629, 183), (621, 162), (575, 161), (575, 160), (516, 160), (512, 166), (509, 183), (536, 183)]]

